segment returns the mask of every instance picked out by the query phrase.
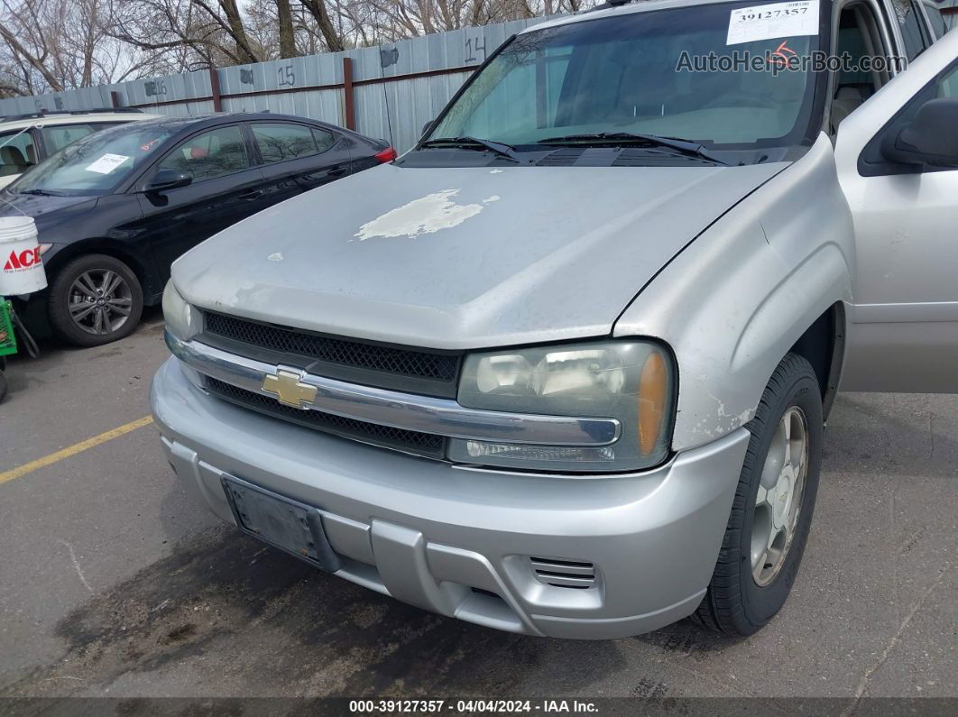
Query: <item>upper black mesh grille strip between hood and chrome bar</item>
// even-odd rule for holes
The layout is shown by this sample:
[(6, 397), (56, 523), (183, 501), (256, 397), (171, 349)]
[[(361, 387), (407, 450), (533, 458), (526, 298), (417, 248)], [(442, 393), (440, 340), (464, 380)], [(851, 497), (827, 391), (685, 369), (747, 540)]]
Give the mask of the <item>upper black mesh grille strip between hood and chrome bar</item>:
[(445, 383), (453, 383), (459, 374), (456, 354), (365, 344), (213, 312), (205, 319), (207, 334), (340, 366)]

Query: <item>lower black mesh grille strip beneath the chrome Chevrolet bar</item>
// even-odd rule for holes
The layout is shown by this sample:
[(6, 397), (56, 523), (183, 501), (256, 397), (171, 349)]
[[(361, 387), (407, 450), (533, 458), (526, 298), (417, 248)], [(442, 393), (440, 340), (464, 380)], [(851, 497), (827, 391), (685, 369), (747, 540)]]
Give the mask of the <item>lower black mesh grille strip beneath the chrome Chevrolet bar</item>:
[(262, 393), (239, 389), (209, 376), (206, 377), (206, 388), (220, 398), (225, 398), (245, 408), (283, 418), (301, 426), (314, 428), (317, 431), (353, 438), (385, 448), (407, 451), (428, 458), (441, 459), (445, 457), (445, 437), (442, 436), (380, 426), (377, 423), (367, 423), (354, 418), (343, 418), (339, 415), (324, 414), (318, 411), (302, 411), (292, 406), (284, 406), (279, 401), (264, 396)]

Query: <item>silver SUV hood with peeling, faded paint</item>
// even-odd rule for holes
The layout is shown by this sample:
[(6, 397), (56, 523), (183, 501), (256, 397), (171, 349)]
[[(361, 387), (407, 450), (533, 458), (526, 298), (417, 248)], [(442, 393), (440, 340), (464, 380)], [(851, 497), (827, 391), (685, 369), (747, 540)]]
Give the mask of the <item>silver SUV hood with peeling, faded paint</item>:
[(433, 348), (595, 337), (784, 164), (370, 169), (179, 258), (201, 308)]

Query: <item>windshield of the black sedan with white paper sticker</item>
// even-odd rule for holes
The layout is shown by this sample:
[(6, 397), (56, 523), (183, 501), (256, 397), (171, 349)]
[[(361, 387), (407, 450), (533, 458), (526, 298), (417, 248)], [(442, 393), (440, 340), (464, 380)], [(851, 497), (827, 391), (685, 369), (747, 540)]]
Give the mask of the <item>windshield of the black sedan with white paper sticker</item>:
[(21, 193), (106, 194), (140, 168), (176, 127), (129, 123), (87, 135), (26, 172), (10, 190)]

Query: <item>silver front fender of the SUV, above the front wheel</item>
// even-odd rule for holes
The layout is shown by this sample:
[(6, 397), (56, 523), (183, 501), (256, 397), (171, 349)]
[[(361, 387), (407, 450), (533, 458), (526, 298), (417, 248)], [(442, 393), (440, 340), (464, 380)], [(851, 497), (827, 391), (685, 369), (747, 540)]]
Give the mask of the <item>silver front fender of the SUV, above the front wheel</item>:
[(852, 214), (822, 134), (674, 258), (615, 325), (615, 336), (673, 347), (673, 450), (747, 423), (788, 349), (833, 304), (851, 302), (854, 273)]

